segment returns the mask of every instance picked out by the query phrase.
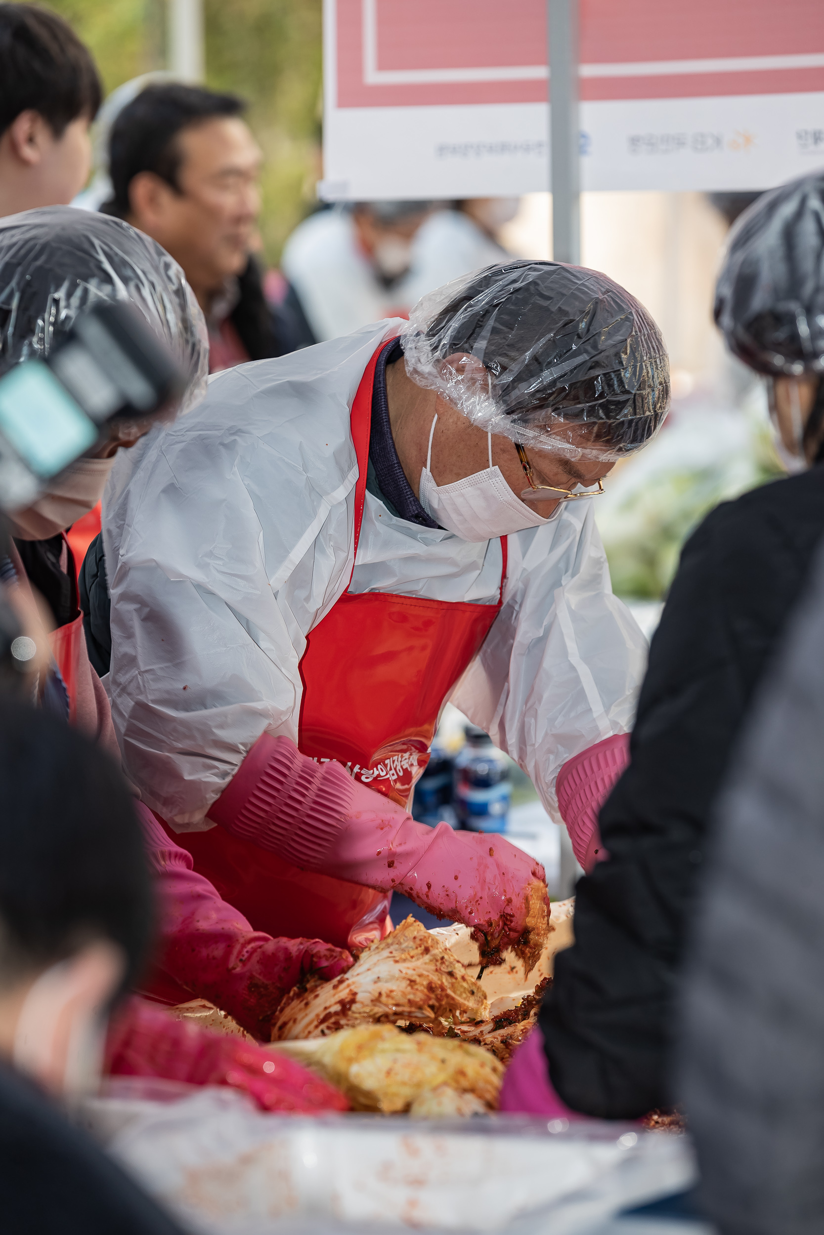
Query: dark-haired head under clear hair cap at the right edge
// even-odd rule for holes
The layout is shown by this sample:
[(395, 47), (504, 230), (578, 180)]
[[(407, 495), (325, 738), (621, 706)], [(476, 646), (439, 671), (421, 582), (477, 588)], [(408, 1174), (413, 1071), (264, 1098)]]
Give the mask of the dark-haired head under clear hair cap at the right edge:
[(765, 193), (735, 224), (715, 322), (759, 373), (824, 373), (824, 173)]

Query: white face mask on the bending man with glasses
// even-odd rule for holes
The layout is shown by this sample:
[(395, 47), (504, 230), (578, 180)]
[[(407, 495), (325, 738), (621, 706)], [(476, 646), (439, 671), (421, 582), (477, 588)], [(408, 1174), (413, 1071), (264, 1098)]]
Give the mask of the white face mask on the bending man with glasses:
[[(492, 466), (492, 433), (487, 433), (488, 468), (463, 477), (462, 480), (453, 480), (452, 484), (435, 484), (429, 466), (432, 461), (432, 435), (436, 424), (437, 415), (429, 431), (426, 467), (420, 474), (420, 504), (430, 519), (435, 519), (441, 527), (455, 532), (461, 540), (468, 541), (494, 540), (497, 536), (520, 532), (525, 527), (549, 524), (549, 519), (541, 519), (515, 496), (504, 480), (500, 468)], [(550, 517), (553, 519), (560, 509), (558, 506)]]

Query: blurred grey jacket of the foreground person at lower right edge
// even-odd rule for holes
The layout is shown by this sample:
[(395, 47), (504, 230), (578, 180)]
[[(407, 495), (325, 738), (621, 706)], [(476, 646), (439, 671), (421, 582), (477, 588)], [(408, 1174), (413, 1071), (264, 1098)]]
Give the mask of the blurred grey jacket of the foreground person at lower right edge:
[(719, 798), (679, 1097), (724, 1235), (824, 1230), (824, 555)]

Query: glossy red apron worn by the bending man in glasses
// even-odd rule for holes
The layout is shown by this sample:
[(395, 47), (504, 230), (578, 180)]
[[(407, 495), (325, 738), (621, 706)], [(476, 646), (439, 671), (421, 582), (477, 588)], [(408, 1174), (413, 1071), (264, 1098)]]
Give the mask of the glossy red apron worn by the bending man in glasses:
[[(356, 553), (380, 350), (369, 361), (352, 405), (359, 469)], [(500, 545), (503, 594), (505, 537)], [(300, 751), (320, 762), (337, 760), (356, 779), (405, 806), (426, 767), (444, 703), (499, 609), (500, 595), (498, 604), (481, 605), (346, 592), (306, 638), (300, 661)], [(320, 937), (340, 947), (350, 939), (366, 942), (380, 934), (387, 900), (382, 892), (301, 871), (222, 827), (169, 835), (256, 930)]]

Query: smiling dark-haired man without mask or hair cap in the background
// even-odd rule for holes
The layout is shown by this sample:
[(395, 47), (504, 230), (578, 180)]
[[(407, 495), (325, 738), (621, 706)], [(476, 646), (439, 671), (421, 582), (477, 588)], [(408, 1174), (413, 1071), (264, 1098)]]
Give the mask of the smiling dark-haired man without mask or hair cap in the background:
[(263, 295), (252, 251), (261, 210), (261, 151), (246, 104), (179, 83), (149, 84), (109, 136), (112, 195), (125, 219), (183, 267), (209, 327), (209, 368), (292, 351), (290, 326)]

